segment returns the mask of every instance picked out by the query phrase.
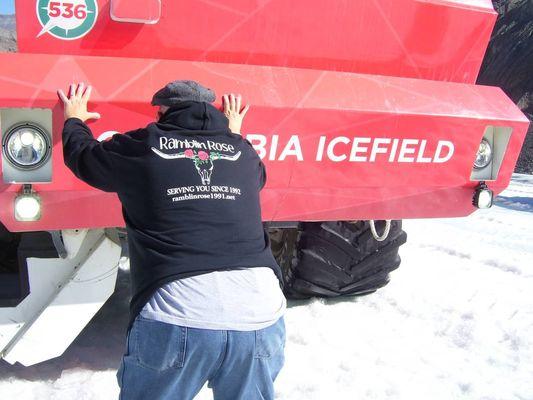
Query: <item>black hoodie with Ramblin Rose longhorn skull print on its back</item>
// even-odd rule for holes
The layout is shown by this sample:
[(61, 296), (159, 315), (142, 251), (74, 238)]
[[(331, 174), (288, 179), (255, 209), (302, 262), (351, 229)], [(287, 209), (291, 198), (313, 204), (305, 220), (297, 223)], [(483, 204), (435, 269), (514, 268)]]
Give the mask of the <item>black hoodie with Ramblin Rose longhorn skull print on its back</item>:
[(214, 270), (271, 267), (261, 221), (265, 167), (208, 103), (184, 101), (157, 123), (99, 142), (65, 121), (63, 156), (81, 180), (122, 202), (130, 251), (129, 328), (158, 287)]

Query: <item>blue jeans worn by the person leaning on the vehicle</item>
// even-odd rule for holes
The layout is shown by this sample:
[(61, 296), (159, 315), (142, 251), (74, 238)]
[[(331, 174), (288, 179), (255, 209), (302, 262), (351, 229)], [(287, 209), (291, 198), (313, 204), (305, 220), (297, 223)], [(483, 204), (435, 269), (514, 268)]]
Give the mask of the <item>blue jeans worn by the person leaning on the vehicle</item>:
[(285, 320), (233, 331), (138, 315), (126, 342), (117, 371), (119, 400), (192, 400), (205, 382), (215, 400), (269, 400), (285, 361)]

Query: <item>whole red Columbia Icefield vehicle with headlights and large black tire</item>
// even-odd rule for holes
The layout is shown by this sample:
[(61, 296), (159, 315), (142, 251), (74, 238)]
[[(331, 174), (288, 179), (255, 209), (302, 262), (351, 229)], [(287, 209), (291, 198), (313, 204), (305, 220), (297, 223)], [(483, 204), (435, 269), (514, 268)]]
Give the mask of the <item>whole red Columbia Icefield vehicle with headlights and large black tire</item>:
[(2, 357), (61, 355), (127, 257), (117, 193), (64, 164), (58, 88), (93, 86), (99, 141), (152, 122), (175, 79), (242, 94), (286, 296), (359, 295), (400, 264), (402, 219), (466, 216), (509, 184), (529, 121), (474, 84), (495, 20), (489, 0), (17, 0), (19, 51), (0, 55)]

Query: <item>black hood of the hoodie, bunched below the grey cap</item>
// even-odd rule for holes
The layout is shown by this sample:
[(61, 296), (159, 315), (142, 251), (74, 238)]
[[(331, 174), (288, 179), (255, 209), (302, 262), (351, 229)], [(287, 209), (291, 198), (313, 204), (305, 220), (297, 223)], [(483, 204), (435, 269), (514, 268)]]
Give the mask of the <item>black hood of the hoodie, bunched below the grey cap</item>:
[(200, 101), (182, 101), (170, 107), (157, 122), (162, 130), (183, 131), (228, 132), (228, 125), (229, 121), (222, 111)]

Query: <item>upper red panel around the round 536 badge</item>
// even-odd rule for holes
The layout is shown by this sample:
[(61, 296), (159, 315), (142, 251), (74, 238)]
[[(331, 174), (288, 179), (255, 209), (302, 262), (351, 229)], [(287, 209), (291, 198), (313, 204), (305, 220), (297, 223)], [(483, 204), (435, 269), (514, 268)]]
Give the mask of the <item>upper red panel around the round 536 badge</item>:
[[(155, 0), (121, 1), (146, 15)], [(162, 0), (155, 25), (116, 22), (98, 0), (77, 40), (50, 34), (17, 0), (22, 52), (179, 59), (474, 83), (496, 20), (489, 0)], [(153, 6), (153, 5), (152, 5)]]

